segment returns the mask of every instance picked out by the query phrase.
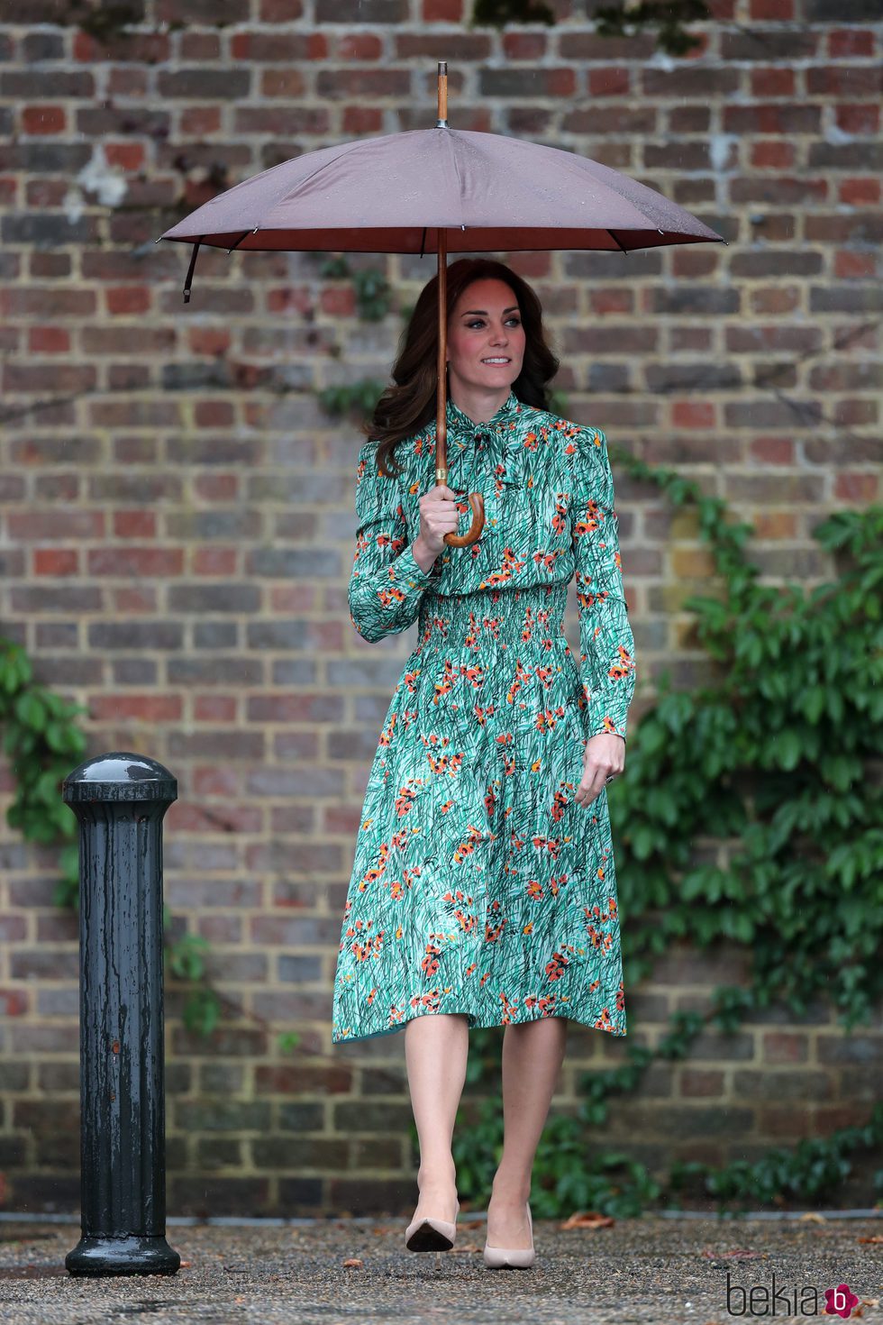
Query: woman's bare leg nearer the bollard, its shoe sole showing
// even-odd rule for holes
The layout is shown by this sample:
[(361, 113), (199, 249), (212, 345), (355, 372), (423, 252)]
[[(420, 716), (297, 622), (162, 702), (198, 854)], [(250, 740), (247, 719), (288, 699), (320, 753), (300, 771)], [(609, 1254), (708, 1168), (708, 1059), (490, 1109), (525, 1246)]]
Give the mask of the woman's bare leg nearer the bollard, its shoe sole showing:
[(454, 1222), (457, 1169), (451, 1137), (466, 1081), (469, 1020), (458, 1012), (425, 1012), (405, 1026), (408, 1089), (420, 1141), (414, 1219)]

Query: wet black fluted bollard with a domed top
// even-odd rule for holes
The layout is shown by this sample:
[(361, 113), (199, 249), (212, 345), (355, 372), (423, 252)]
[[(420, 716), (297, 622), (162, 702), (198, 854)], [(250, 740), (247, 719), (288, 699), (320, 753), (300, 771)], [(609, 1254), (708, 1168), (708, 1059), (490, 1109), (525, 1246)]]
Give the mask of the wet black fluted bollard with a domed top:
[(165, 1242), (163, 815), (168, 768), (87, 759), (62, 798), (79, 820), (82, 1236), (71, 1275), (173, 1275)]

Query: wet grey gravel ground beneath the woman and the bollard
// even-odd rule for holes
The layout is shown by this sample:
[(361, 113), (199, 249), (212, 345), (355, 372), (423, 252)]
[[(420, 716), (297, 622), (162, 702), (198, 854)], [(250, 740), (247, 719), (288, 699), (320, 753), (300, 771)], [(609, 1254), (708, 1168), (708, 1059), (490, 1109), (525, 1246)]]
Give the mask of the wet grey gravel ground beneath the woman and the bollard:
[(883, 1325), (883, 1218), (650, 1215), (592, 1231), (537, 1220), (534, 1267), (502, 1271), (482, 1260), (485, 1220), (483, 1212), (461, 1212), (441, 1269), (434, 1253), (405, 1249), (404, 1218), (234, 1227), (169, 1220), (168, 1242), (181, 1256), (176, 1275), (74, 1279), (64, 1261), (77, 1224), (7, 1216), (0, 1321), (724, 1325), (760, 1316), (782, 1325), (825, 1317), (825, 1289), (846, 1283), (859, 1300), (850, 1318)]

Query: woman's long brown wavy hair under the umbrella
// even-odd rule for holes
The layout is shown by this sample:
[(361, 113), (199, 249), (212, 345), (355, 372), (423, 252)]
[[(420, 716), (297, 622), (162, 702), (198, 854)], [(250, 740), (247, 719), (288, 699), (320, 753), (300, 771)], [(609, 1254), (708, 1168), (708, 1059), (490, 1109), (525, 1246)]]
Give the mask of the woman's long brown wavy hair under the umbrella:
[[(543, 306), (523, 277), (494, 258), (462, 257), (446, 273), (447, 319), (457, 299), (473, 281), (492, 277), (504, 281), (518, 299), (524, 326), (524, 360), (512, 383), (512, 391), (526, 405), (549, 408), (547, 384), (559, 370), (559, 360), (549, 348), (543, 327)], [(398, 343), (398, 358), (392, 374), (393, 386), (380, 396), (371, 420), (361, 432), (377, 443), (376, 460), (380, 473), (397, 478), (401, 473), (393, 452), (400, 441), (412, 437), (436, 419), (438, 382), (438, 272), (420, 292), (420, 298)], [(392, 464), (391, 464), (392, 462)]]

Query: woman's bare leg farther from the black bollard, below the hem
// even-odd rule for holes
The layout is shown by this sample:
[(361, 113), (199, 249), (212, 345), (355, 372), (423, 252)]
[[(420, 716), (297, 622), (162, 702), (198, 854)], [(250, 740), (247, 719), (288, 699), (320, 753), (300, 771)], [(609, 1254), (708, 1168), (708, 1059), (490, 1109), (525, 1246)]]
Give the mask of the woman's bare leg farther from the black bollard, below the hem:
[(526, 1203), (536, 1147), (567, 1048), (567, 1018), (549, 1016), (503, 1032), (503, 1155), (487, 1207), (487, 1242), (531, 1246)]

